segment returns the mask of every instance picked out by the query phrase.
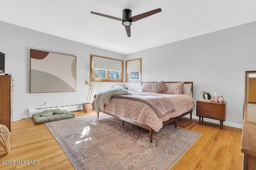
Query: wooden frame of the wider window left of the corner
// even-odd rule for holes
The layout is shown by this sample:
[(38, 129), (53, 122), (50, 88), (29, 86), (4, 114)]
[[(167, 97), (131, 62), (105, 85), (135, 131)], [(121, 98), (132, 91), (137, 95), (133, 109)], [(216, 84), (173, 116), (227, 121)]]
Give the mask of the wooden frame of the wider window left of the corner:
[[(101, 82), (124, 82), (124, 61), (123, 60), (118, 60), (118, 59), (113, 59), (113, 58), (109, 58), (109, 57), (102, 57), (102, 56), (98, 56), (98, 55), (90, 55), (90, 81), (93, 82), (94, 78), (92, 76), (92, 72), (93, 72), (93, 68), (92, 68), (92, 63), (93, 63), (93, 57), (100, 57), (100, 58), (104, 58), (104, 59), (110, 59), (110, 60), (115, 60), (115, 61), (120, 61), (122, 62), (122, 71), (120, 71), (120, 79), (110, 79), (110, 70), (106, 70), (107, 71), (107, 78), (102, 78)], [(100, 68), (99, 68), (100, 69)]]

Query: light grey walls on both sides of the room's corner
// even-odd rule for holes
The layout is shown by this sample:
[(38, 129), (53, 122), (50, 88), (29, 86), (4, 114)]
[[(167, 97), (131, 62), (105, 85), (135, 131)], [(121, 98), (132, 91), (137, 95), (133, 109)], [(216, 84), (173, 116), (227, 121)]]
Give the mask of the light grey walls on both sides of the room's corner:
[[(6, 54), (6, 73), (15, 79), (14, 116), (28, 108), (80, 104), (86, 100), (90, 54), (116, 59), (142, 57), (142, 81), (193, 81), (194, 100), (200, 92), (217, 92), (227, 102), (224, 124), (242, 126), (245, 70), (256, 70), (256, 22), (122, 55), (0, 21), (0, 51)], [(30, 48), (77, 56), (76, 92), (30, 94)], [(125, 58), (124, 58), (125, 57)], [(94, 94), (124, 83), (98, 83)], [(140, 90), (140, 83), (126, 83)], [(196, 106), (193, 116), (196, 115)], [(218, 122), (218, 121), (216, 121)]]

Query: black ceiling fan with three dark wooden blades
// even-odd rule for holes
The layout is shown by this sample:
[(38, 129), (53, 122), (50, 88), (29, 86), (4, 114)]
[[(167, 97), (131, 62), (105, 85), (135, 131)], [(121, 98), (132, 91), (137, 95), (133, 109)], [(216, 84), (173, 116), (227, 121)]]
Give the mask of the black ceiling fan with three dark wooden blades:
[(96, 14), (96, 15), (99, 15), (99, 16), (104, 16), (106, 18), (111, 18), (111, 19), (114, 19), (114, 20), (122, 21), (122, 24), (124, 25), (124, 27), (126, 29), (127, 36), (130, 37), (131, 36), (131, 27), (130, 27), (130, 25), (132, 25), (132, 22), (138, 21), (142, 18), (146, 18), (148, 16), (151, 16), (151, 15), (156, 14), (156, 13), (161, 12), (161, 11), (162, 11), (161, 8), (158, 8), (156, 10), (152, 10), (152, 11), (149, 11), (149, 12), (145, 12), (143, 14), (132, 16), (132, 11), (129, 10), (129, 9), (125, 9), (125, 10), (123, 10), (122, 18), (108, 16), (108, 15), (105, 15), (105, 14), (100, 14), (100, 13), (92, 12), (92, 11), (91, 11), (91, 14)]

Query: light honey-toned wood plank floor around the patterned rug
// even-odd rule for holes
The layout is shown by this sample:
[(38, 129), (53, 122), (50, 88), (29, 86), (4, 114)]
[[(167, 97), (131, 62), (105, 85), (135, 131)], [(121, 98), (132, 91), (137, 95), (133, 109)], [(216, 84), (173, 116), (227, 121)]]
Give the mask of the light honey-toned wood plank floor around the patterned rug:
[[(92, 114), (83, 111), (73, 113), (76, 116)], [(22, 119), (12, 122), (11, 125), (11, 152), (6, 154), (0, 146), (0, 160), (9, 161), (9, 163), (20, 161), (24, 164), (0, 164), (0, 170), (74, 170), (68, 157), (44, 123), (36, 125), (33, 119)], [(242, 170), (243, 154), (240, 150), (242, 129), (224, 125), (220, 130), (218, 124), (204, 122), (199, 125), (198, 120), (185, 117), (178, 120), (178, 127), (202, 133), (202, 136), (172, 169)], [(39, 164), (36, 165), (25, 162), (37, 160)]]

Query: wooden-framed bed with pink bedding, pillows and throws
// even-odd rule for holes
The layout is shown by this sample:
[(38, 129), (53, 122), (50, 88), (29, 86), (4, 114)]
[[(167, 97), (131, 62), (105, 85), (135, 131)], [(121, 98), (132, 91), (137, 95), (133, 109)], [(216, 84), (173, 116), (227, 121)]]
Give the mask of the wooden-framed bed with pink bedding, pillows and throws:
[(118, 91), (113, 96), (108, 96), (109, 101), (101, 107), (98, 106), (98, 101), (106, 96), (98, 93), (92, 103), (93, 110), (98, 117), (102, 112), (123, 120), (123, 125), (126, 121), (148, 129), (150, 142), (153, 131), (157, 132), (170, 123), (175, 123), (177, 128), (178, 119), (187, 114), (192, 119), (193, 82), (143, 82), (141, 91), (119, 90), (126, 94)]

